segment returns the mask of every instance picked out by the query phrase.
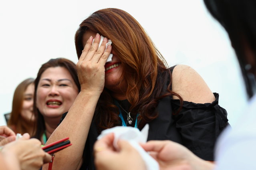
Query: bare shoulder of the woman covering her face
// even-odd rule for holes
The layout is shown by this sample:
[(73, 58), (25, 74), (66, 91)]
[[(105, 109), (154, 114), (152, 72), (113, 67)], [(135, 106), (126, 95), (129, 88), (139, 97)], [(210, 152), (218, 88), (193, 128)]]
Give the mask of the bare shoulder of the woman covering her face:
[[(215, 97), (204, 79), (188, 65), (177, 65), (172, 73), (172, 91), (184, 101), (212, 103)], [(173, 96), (173, 99), (178, 99)]]

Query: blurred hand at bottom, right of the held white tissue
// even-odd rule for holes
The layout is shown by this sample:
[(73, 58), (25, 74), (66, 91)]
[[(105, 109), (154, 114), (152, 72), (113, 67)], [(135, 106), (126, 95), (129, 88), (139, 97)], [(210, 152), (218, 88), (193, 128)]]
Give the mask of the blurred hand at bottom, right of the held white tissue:
[(185, 146), (176, 142), (152, 140), (141, 146), (159, 163), (160, 170), (212, 170), (214, 168), (214, 164), (198, 158)]

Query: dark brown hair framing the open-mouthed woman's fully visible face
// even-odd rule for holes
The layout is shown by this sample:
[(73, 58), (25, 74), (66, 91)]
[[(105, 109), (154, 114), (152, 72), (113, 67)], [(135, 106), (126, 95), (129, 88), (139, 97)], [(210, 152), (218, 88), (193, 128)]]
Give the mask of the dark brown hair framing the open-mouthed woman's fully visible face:
[(36, 120), (36, 129), (35, 129), (36, 132), (34, 133), (34, 137), (39, 140), (41, 139), (42, 134), (44, 133), (45, 124), (44, 124), (43, 115), (40, 113), (40, 111), (36, 107), (36, 91), (37, 91), (38, 83), (40, 81), (42, 73), (44, 73), (44, 71), (50, 67), (64, 67), (65, 69), (67, 69), (69, 71), (71, 77), (73, 78), (75, 84), (77, 85), (78, 91), (80, 91), (80, 83), (78, 80), (77, 69), (76, 69), (75, 63), (73, 63), (69, 59), (56, 58), (56, 59), (50, 59), (46, 63), (42, 64), (42, 66), (40, 67), (40, 69), (37, 73), (37, 77), (34, 81), (35, 92), (34, 92), (34, 103), (33, 103), (33, 111), (35, 113), (35, 120)]

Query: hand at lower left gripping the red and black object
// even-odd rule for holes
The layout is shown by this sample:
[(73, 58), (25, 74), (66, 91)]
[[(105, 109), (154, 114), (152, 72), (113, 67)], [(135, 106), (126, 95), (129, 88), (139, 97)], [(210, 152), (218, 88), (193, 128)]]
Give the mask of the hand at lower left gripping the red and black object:
[(14, 142), (4, 146), (1, 153), (8, 165), (18, 164), (22, 170), (38, 170), (51, 161), (51, 156), (41, 148), (41, 142), (35, 138), (29, 139), (28, 133)]

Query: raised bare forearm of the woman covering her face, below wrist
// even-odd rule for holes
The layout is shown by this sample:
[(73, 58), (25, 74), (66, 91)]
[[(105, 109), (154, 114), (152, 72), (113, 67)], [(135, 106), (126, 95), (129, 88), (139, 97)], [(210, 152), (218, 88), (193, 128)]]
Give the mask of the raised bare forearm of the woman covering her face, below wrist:
[[(58, 167), (62, 170), (72, 170), (79, 166), (99, 96), (100, 94), (90, 91), (80, 92), (65, 119), (46, 142), (49, 144), (69, 137), (72, 143), (72, 146), (55, 154), (53, 169)], [(47, 170), (47, 166), (43, 166), (43, 170)]]

